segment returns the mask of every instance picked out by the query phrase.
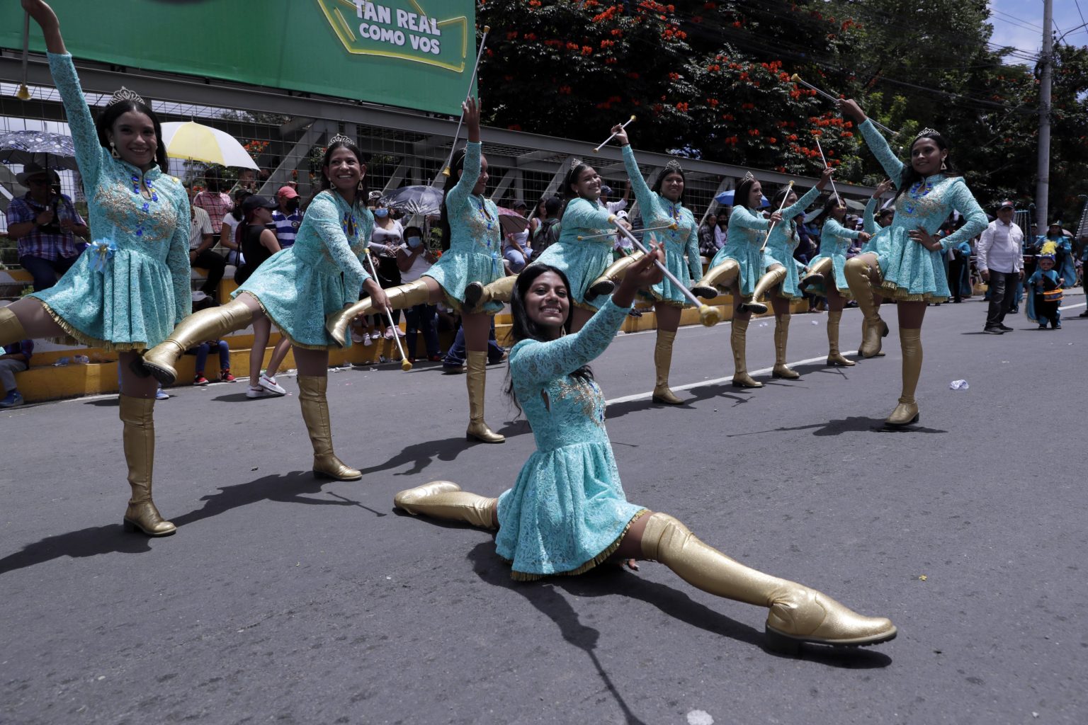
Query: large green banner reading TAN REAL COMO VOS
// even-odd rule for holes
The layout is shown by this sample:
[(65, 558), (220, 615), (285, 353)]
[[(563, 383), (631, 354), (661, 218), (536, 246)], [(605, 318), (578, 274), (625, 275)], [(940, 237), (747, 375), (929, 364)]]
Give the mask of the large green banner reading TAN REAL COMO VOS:
[[(475, 61), (474, 0), (50, 4), (76, 59), (436, 113), (460, 113)], [(18, 3), (0, 4), (0, 47), (21, 50), (22, 27)], [(30, 48), (45, 50), (33, 23)]]

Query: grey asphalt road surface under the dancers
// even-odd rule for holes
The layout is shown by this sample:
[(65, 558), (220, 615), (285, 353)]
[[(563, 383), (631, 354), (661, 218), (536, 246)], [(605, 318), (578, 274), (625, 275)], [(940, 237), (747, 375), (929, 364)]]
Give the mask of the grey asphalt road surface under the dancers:
[[(652, 333), (595, 363), (632, 501), (900, 628), (801, 657), (764, 649), (765, 611), (659, 564), (517, 584), (489, 533), (394, 512), (431, 479), (490, 496), (515, 480), (533, 441), (499, 367), (502, 446), (463, 440), (461, 377), (333, 373), (357, 483), (309, 475), (294, 396), (176, 390), (156, 408), (154, 498), (178, 532), (154, 540), (121, 528), (112, 397), (4, 411), (0, 722), (1083, 724), (1088, 318), (1083, 296), (1066, 304), (1064, 329), (1021, 316), (1001, 337), (978, 301), (930, 308), (922, 420), (903, 432), (881, 426), (893, 310), (887, 357), (848, 370), (821, 364), (825, 316), (795, 315), (790, 360), (816, 362), (761, 390), (724, 379), (728, 325), (684, 328), (680, 408), (648, 402)], [(860, 323), (846, 312), (845, 350)], [(752, 371), (772, 330), (753, 323)]]

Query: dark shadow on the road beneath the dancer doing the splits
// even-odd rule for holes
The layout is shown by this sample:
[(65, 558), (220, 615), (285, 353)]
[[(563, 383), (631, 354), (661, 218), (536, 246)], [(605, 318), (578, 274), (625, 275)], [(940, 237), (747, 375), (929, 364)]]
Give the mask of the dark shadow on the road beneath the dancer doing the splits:
[[(892, 662), (891, 658), (882, 652), (860, 648), (802, 646), (799, 655), (780, 654), (766, 648), (766, 639), (757, 629), (694, 601), (679, 588), (646, 580), (610, 563), (605, 563), (578, 576), (555, 576), (540, 582), (521, 583), (510, 578), (509, 567), (495, 554), (494, 542), (485, 541), (477, 545), (469, 551), (467, 558), (482, 580), (524, 597), (529, 603), (556, 623), (565, 640), (585, 651), (596, 666), (602, 680), (623, 710), (629, 723), (641, 723), (642, 721), (630, 712), (621, 693), (616, 689), (611, 678), (596, 657), (594, 650), (601, 633), (581, 623), (579, 613), (567, 598), (559, 595), (559, 590), (566, 591), (571, 598), (577, 599), (606, 596), (638, 599), (656, 607), (679, 622), (703, 629), (714, 636), (724, 635), (730, 639), (759, 647), (774, 657), (802, 659), (830, 667), (849, 670), (886, 667)], [(654, 564), (640, 562), (640, 565), (652, 566)], [(678, 586), (689, 586), (679, 577), (677, 584)], [(722, 600), (722, 602), (725, 601), (727, 600)]]

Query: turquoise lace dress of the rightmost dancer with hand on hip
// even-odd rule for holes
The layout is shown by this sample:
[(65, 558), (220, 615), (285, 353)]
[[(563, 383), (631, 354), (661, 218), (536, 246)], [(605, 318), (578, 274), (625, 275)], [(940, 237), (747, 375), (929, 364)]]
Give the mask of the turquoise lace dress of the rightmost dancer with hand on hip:
[[(865, 142), (876, 154), (888, 176), (899, 185), (903, 163), (895, 158), (888, 141), (868, 118), (858, 126)], [(948, 250), (968, 241), (986, 228), (986, 213), (960, 176), (934, 174), (915, 183), (895, 197), (895, 220), (888, 227), (887, 250), (877, 258), (883, 282), (879, 290), (898, 300), (943, 302), (949, 299), (948, 275), (940, 250), (930, 251), (911, 239), (907, 233), (922, 227), (936, 234), (953, 211), (964, 216), (964, 225), (941, 239)]]

